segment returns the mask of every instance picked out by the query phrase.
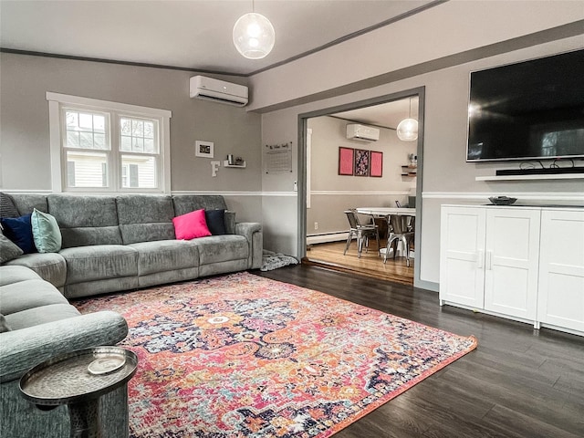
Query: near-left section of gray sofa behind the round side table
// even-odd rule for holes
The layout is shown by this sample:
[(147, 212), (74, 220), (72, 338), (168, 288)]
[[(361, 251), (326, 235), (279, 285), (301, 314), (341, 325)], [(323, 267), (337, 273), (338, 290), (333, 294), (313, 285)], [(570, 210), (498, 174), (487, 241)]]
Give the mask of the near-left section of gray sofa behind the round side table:
[[(0, 436), (68, 437), (67, 406), (37, 409), (20, 394), (20, 378), (52, 357), (117, 344), (128, 334), (126, 320), (111, 311), (80, 315), (57, 287), (25, 266), (0, 266), (0, 312)], [(104, 438), (128, 436), (125, 386), (104, 395), (99, 411)]]

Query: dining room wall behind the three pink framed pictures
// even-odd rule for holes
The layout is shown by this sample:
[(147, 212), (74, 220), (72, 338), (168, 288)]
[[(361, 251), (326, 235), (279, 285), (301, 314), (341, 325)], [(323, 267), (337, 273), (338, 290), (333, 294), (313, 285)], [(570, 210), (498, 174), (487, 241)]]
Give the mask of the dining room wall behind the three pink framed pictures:
[[(347, 124), (322, 116), (308, 120), (312, 130), (311, 196), (307, 210), (307, 234), (346, 232), (347, 217), (343, 210), (358, 206), (395, 206), (395, 201), (407, 203), (408, 194), (415, 193), (415, 178), (402, 177), (401, 165), (408, 164), (408, 155), (416, 153), (415, 141), (400, 141), (395, 130), (379, 128), (379, 141), (347, 139)], [(339, 175), (339, 146), (383, 152), (381, 178)], [(314, 224), (318, 222), (318, 229)]]

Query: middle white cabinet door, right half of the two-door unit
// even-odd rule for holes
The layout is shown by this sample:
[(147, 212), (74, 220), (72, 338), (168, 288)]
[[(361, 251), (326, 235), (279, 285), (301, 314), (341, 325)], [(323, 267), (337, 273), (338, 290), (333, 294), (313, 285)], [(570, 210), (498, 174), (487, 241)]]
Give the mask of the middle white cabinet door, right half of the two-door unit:
[(486, 310), (536, 320), (539, 225), (539, 210), (487, 209)]

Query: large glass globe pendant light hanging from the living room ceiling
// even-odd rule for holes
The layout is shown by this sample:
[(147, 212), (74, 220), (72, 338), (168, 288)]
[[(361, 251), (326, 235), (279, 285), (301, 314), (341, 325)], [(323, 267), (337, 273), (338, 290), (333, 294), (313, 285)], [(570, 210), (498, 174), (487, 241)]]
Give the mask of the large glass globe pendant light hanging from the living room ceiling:
[(248, 59), (266, 57), (272, 51), (275, 41), (274, 26), (261, 14), (250, 12), (235, 22), (235, 48)]

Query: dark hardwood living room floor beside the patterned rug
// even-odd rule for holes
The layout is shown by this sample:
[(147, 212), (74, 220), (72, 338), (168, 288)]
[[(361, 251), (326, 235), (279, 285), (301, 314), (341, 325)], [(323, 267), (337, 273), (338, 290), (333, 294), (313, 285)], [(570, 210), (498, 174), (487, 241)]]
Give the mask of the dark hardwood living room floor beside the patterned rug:
[(582, 438), (584, 338), (438, 305), (435, 292), (318, 266), (255, 274), (459, 335), (478, 348), (335, 438)]

